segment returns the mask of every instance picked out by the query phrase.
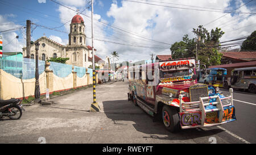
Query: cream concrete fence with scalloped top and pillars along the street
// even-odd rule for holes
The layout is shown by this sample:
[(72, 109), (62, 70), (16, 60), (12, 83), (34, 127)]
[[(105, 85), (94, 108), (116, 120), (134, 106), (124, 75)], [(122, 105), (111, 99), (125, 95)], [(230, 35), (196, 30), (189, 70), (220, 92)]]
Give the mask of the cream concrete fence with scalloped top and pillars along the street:
[[(90, 77), (87, 69), (83, 77), (77, 77), (77, 72), (73, 71), (74, 68), (67, 77), (58, 77), (53, 74), (49, 66), (50, 62), (46, 62), (45, 70), (39, 76), (41, 95), (46, 94), (46, 89), (49, 89), (49, 94), (52, 94), (54, 91), (76, 89), (77, 87), (93, 84), (93, 77)], [(98, 74), (96, 74), (96, 83), (98, 83)], [(35, 78), (16, 78), (0, 69), (0, 99), (28, 98), (34, 96), (34, 93)]]

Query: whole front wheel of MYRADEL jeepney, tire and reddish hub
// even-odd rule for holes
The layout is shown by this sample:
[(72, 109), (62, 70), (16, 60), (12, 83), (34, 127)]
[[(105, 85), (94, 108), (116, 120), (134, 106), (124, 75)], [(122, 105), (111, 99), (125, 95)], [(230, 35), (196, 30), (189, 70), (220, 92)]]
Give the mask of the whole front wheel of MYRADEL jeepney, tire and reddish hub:
[(164, 105), (162, 109), (162, 119), (164, 127), (170, 132), (177, 132), (180, 130), (179, 114), (174, 108)]

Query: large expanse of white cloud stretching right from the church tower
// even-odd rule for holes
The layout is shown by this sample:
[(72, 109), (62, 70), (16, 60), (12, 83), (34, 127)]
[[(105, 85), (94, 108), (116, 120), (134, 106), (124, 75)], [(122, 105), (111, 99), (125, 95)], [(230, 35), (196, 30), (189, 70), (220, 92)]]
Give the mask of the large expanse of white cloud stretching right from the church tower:
[[(72, 9), (80, 9), (83, 10), (86, 5), (86, 1), (67, 1), (67, 0), (59, 0), (65, 5), (69, 5)], [(160, 1), (160, 0), (159, 0)], [(198, 6), (201, 7), (210, 7), (221, 10), (232, 10), (230, 7), (230, 1), (197, 1)], [(99, 1), (98, 1), (99, 2)], [(167, 1), (162, 1), (167, 2)], [(195, 6), (194, 1), (168, 1), (170, 3), (180, 3), (184, 5)], [(84, 6), (80, 6), (77, 4), (81, 4)], [(251, 2), (252, 4), (253, 2)], [(199, 5), (200, 4), (200, 5)], [(244, 3), (240, 0), (236, 2), (235, 7), (239, 7)], [(172, 5), (174, 6), (174, 5)], [(181, 6), (179, 6), (181, 7)], [(184, 7), (184, 6), (183, 6)], [(198, 9), (198, 8), (196, 8)], [(233, 8), (234, 9), (234, 8)], [(255, 8), (254, 8), (255, 9)], [(76, 15), (75, 11), (69, 10), (65, 7), (60, 6), (60, 18), (61, 22), (65, 23), (73, 18)], [(246, 6), (241, 7), (237, 11), (242, 12), (251, 12)], [(90, 10), (85, 10), (84, 14), (89, 16), (89, 18), (81, 15), (84, 18), (85, 26), (86, 26), (86, 36), (91, 37), (91, 22), (90, 22)], [(123, 30), (127, 30), (129, 32), (136, 33), (137, 35), (143, 36), (135, 36), (131, 33), (126, 33), (123, 31), (119, 31), (117, 29), (108, 27), (106, 28), (104, 24), (99, 22), (94, 22), (94, 35), (95, 39), (101, 40), (109, 40), (123, 44), (129, 45), (139, 45), (143, 47), (167, 47), (166, 49), (159, 48), (139, 48), (139, 47), (131, 47), (127, 45), (119, 45), (112, 44), (108, 42), (94, 40), (94, 47), (97, 49), (96, 55), (101, 58), (105, 58), (106, 55), (110, 56), (110, 53), (113, 51), (117, 51), (119, 53), (119, 61), (123, 60), (143, 60), (150, 59), (150, 54), (155, 53), (155, 55), (168, 55), (170, 54), (170, 45), (155, 43), (154, 41), (150, 41), (145, 39), (149, 38), (151, 40), (157, 40), (160, 42), (173, 44), (175, 41), (181, 41), (183, 35), (189, 34), (189, 37), (195, 37), (193, 35), (192, 28), (197, 28), (197, 26), (201, 24), (206, 24), (211, 22), (214, 19), (219, 18), (220, 16), (226, 14), (222, 12), (208, 12), (208, 11), (196, 11), (196, 10), (184, 10), (184, 9), (174, 9), (169, 7), (160, 7), (160, 6), (151, 6), (141, 3), (133, 3), (122, 1), (121, 5), (117, 5), (117, 1), (113, 0), (110, 9), (106, 14), (113, 18), (113, 26), (122, 28)], [(247, 18), (245, 18), (247, 17)], [(100, 15), (94, 14), (95, 19), (100, 19)], [(237, 19), (241, 20), (237, 20)], [(242, 19), (243, 18), (243, 19)], [(63, 20), (67, 19), (67, 20)], [(224, 24), (232, 20), (227, 24)], [(237, 21), (236, 21), (237, 20)], [(232, 24), (230, 24), (232, 23)], [(222, 28), (224, 32), (224, 36), (222, 36), (221, 41), (226, 41), (230, 39), (236, 39), (241, 36), (250, 35), (251, 32), (255, 30), (255, 25), (248, 26), (250, 24), (256, 24), (256, 16), (249, 16), (248, 14), (235, 14), (235, 15), (225, 15), (224, 17), (214, 21), (213, 23), (205, 26), (209, 31), (216, 26)], [(225, 27), (224, 27), (225, 26)], [(241, 28), (245, 27), (245, 28)], [(69, 23), (65, 25), (67, 32), (69, 32)], [(241, 28), (241, 29), (238, 29)], [(113, 33), (106, 32), (105, 30), (113, 31)], [(117, 32), (118, 31), (118, 32)], [(86, 39), (86, 44), (91, 45), (91, 40)]]

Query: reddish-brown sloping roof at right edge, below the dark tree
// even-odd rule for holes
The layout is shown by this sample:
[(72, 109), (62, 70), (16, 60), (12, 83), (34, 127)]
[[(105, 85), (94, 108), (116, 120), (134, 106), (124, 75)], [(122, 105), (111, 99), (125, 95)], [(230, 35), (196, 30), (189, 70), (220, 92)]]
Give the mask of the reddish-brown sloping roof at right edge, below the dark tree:
[(255, 52), (221, 52), (221, 64), (234, 64), (240, 62), (256, 61)]

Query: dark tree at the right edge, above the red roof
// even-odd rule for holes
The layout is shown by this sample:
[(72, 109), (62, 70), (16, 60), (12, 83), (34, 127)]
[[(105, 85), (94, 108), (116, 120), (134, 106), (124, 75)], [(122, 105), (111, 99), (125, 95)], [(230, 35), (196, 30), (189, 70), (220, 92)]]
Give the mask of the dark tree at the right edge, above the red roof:
[(256, 51), (256, 31), (243, 41), (241, 51)]

